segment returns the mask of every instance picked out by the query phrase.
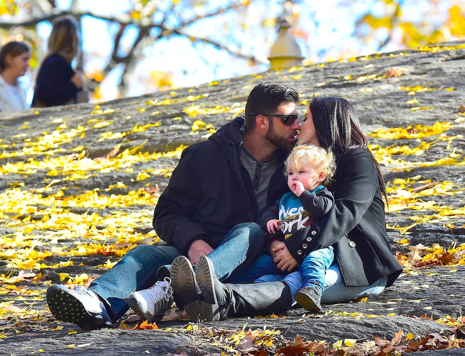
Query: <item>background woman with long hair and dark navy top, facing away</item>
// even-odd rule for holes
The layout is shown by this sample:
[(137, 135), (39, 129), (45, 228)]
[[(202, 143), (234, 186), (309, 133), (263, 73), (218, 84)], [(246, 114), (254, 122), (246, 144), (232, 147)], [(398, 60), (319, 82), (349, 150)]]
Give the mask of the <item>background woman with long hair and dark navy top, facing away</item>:
[(80, 73), (71, 63), (79, 50), (77, 24), (73, 18), (59, 18), (53, 23), (48, 39), (48, 53), (35, 82), (33, 106), (46, 107), (77, 102), (82, 87)]

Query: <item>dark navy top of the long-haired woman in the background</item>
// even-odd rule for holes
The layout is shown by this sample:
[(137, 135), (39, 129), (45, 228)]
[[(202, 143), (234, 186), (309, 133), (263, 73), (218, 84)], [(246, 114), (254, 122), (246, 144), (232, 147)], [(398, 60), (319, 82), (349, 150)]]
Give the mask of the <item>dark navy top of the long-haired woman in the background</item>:
[(47, 106), (65, 104), (79, 91), (70, 81), (73, 75), (73, 68), (63, 58), (53, 56), (44, 61), (35, 87), (37, 99)]

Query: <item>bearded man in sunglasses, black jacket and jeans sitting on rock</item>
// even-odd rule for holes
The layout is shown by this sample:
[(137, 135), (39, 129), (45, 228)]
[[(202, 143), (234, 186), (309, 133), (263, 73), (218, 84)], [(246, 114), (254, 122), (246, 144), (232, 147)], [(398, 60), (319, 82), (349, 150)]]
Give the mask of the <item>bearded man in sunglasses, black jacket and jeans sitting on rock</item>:
[[(257, 223), (288, 190), (283, 165), (300, 129), (298, 100), (292, 88), (257, 84), (247, 99), (245, 119), (234, 119), (181, 155), (153, 215), (153, 227), (166, 245), (136, 246), (88, 290), (53, 284), (46, 293), (53, 316), (86, 329), (111, 327), (127, 303), (153, 322), (171, 306), (174, 292), (177, 305), (197, 320), (199, 300), (186, 297), (195, 293), (184, 293), (186, 286), (195, 288), (191, 264), (208, 255), (219, 280), (227, 282), (263, 252)], [(189, 268), (171, 266), (176, 276), (171, 283), (168, 268), (160, 267), (178, 256), (189, 258), (179, 260)]]

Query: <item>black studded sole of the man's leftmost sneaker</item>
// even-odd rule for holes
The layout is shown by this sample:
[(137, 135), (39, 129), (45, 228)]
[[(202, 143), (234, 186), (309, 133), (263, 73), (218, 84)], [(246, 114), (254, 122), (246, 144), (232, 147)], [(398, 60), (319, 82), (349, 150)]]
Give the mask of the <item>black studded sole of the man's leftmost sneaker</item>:
[(103, 316), (93, 316), (68, 291), (66, 287), (57, 285), (49, 287), (46, 292), (48, 308), (55, 319), (77, 324), (81, 329), (104, 327)]

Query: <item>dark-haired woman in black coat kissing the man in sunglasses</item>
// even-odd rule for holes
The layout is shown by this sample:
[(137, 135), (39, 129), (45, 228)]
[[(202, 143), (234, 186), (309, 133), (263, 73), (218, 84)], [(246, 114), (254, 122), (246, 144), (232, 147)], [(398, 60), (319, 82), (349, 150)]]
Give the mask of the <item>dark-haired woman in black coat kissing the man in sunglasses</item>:
[[(326, 273), (322, 303), (381, 293), (399, 277), (402, 268), (386, 237), (384, 179), (367, 148), (357, 113), (345, 99), (314, 98), (298, 138), (299, 143), (312, 143), (335, 155), (337, 169), (329, 190), (336, 200), (323, 218), (304, 230), (300, 241), (276, 241), (271, 255), (284, 253), (288, 261), (300, 263), (309, 251), (333, 246), (334, 263)], [(285, 273), (276, 268), (272, 257), (263, 255), (244, 272), (243, 280), (254, 273), (255, 277), (267, 274), (255, 280), (266, 283), (223, 284), (209, 258), (201, 256), (195, 278), (202, 292), (202, 317), (218, 321), (228, 316), (278, 312), (292, 305), (292, 297), (301, 286), (299, 272), (283, 278)]]

